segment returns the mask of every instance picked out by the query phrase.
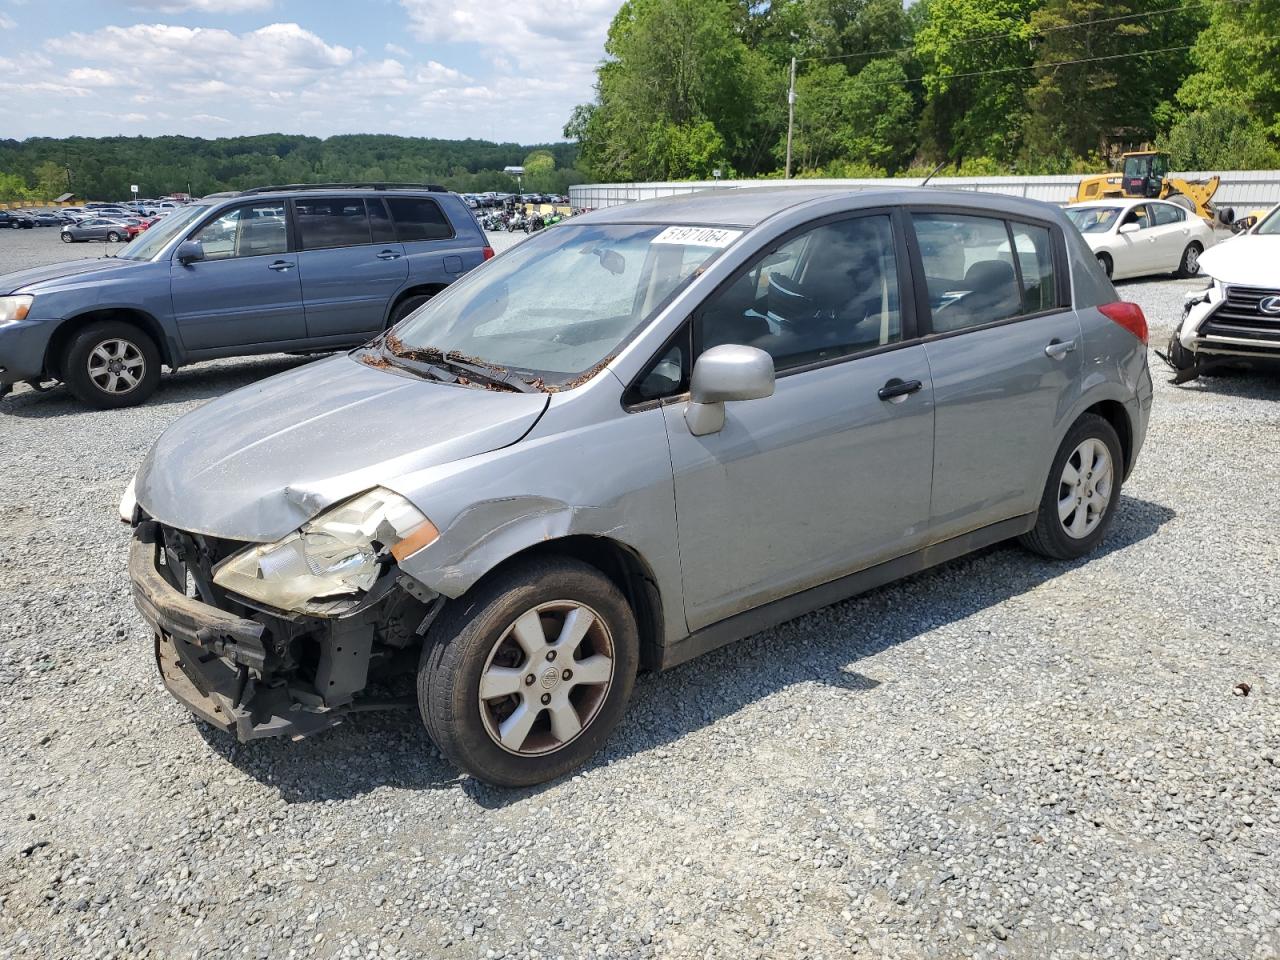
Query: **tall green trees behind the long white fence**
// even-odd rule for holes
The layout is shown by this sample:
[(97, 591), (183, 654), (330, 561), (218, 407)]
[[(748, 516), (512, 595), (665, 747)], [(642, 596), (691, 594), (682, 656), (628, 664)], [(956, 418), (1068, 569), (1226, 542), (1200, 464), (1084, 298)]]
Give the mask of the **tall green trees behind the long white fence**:
[(600, 180), (1280, 168), (1280, 0), (627, 0), (564, 134)]

